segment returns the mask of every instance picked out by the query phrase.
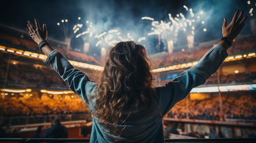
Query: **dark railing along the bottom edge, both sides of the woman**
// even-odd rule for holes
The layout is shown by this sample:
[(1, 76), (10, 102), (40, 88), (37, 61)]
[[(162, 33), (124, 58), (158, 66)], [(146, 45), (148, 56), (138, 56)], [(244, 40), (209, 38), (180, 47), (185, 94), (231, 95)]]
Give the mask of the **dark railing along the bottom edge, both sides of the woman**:
[[(65, 142), (89, 143), (90, 139), (0, 138), (0, 143)], [(166, 143), (256, 143), (256, 138), (230, 139), (165, 139)]]

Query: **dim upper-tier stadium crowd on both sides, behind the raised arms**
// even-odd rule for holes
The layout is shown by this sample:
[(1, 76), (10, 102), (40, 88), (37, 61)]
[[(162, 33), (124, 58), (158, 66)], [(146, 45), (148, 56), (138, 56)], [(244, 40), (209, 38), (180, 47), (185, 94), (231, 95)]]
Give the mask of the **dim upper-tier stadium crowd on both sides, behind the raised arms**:
[[(14, 36), (10, 36), (14, 35)], [(20, 36), (24, 35), (24, 33), (17, 33), (13, 32), (10, 35), (6, 35), (0, 33), (0, 44), (3, 46), (10, 46), (16, 47), (22, 50), (29, 50), (31, 52), (42, 53), (38, 49), (36, 43), (32, 42), (30, 39), (26, 39), (27, 36)], [(94, 57), (85, 55), (86, 58), (75, 57), (74, 55), (70, 55), (66, 53), (67, 51), (67, 44), (58, 43), (55, 41), (51, 41), (53, 47), (59, 50), (63, 55), (65, 55), (68, 59), (76, 60), (78, 62), (85, 62), (91, 64), (100, 64)], [(167, 66), (171, 64), (178, 64), (188, 61), (195, 61), (200, 59), (213, 45), (207, 44), (207, 46), (195, 46), (194, 48), (189, 48), (184, 51), (179, 51), (175, 53), (157, 53), (153, 55), (149, 55), (149, 59), (151, 61), (152, 68), (157, 68), (160, 66)], [(252, 51), (256, 49), (256, 42), (254, 35), (247, 35), (245, 37), (237, 38), (232, 45), (232, 48), (228, 50), (229, 54), (233, 53), (242, 53), (245, 51)], [(85, 59), (85, 60), (83, 60)]]

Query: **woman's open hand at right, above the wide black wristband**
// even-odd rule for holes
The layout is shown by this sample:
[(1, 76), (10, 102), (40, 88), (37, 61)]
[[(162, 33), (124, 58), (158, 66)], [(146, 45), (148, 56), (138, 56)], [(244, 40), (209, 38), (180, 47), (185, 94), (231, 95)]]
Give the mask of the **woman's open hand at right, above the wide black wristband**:
[[(239, 10), (236, 11), (234, 17), (230, 24), (227, 26), (227, 19), (224, 18), (223, 26), (222, 26), (222, 35), (223, 37), (228, 37), (233, 40), (240, 33), (243, 26), (245, 25), (246, 16), (243, 18), (244, 11), (241, 11), (239, 17), (237, 18)], [(243, 19), (242, 19), (243, 18)]]

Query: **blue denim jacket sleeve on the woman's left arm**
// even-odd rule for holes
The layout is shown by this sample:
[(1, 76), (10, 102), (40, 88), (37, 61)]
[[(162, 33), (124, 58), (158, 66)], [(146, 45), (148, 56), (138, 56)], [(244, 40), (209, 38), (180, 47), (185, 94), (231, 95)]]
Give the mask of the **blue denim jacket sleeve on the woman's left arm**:
[(45, 61), (61, 76), (61, 78), (68, 83), (70, 89), (74, 91), (83, 101), (87, 101), (87, 96), (92, 91), (92, 85), (88, 76), (80, 70), (74, 68), (70, 62), (57, 50), (52, 51)]

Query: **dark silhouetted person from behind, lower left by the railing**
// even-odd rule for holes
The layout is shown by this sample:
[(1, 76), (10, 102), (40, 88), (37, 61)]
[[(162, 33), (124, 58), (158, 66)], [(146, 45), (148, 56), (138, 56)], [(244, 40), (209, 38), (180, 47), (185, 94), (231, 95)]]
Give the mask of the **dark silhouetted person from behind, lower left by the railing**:
[[(52, 127), (48, 128), (43, 134), (42, 138), (56, 138), (56, 139), (65, 139), (67, 138), (67, 128), (64, 125), (61, 125), (60, 119), (54, 119)], [(57, 142), (54, 142), (57, 143)]]

